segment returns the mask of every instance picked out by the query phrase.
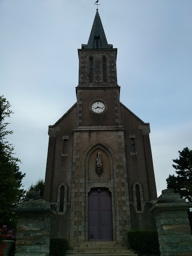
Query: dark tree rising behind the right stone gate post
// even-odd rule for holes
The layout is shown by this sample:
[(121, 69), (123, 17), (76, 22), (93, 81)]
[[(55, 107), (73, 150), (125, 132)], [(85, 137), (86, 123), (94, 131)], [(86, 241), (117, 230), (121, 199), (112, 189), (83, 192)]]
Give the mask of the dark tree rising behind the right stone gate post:
[(173, 188), (174, 192), (179, 193), (181, 198), (185, 198), (186, 201), (192, 201), (192, 150), (188, 147), (184, 147), (179, 152), (179, 158), (173, 159), (172, 164), (175, 168), (177, 176), (170, 175), (166, 179), (167, 188)]

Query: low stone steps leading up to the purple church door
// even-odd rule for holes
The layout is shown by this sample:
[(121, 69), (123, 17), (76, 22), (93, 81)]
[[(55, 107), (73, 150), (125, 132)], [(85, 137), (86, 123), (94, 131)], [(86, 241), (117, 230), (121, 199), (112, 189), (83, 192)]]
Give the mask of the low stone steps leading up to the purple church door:
[(66, 256), (137, 256), (133, 250), (116, 241), (81, 242), (78, 247), (66, 251)]

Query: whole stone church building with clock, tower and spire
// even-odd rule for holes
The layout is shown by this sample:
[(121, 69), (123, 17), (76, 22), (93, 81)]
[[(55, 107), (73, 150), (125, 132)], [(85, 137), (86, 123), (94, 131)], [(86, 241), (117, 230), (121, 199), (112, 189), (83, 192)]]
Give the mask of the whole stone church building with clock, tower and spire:
[(156, 187), (149, 123), (119, 101), (117, 49), (96, 11), (78, 49), (76, 103), (49, 125), (44, 198), (56, 212), (51, 236), (126, 243), (127, 230), (155, 229)]

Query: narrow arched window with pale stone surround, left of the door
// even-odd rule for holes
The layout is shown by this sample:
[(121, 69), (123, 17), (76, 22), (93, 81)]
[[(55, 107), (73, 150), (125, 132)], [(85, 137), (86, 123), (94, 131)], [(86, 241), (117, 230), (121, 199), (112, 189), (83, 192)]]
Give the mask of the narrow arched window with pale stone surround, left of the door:
[(67, 206), (67, 185), (62, 182), (58, 185), (57, 188), (57, 202), (56, 202), (56, 211), (57, 214), (64, 214)]

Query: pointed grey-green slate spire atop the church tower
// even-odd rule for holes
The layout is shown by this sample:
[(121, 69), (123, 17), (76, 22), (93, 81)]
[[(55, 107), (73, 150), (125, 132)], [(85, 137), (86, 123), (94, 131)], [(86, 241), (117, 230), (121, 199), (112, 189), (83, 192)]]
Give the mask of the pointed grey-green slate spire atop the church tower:
[(107, 43), (102, 22), (98, 14), (98, 9), (96, 9), (96, 14), (92, 24), (92, 29), (90, 31), (88, 43), (82, 44), (82, 48), (86, 48), (86, 49), (112, 48), (112, 44)]

